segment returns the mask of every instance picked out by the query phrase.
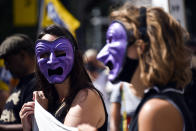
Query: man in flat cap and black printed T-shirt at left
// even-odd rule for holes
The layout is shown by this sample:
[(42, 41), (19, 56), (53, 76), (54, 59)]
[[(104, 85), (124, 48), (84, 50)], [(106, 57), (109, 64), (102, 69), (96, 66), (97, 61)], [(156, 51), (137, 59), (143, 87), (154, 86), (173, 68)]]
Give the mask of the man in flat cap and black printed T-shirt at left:
[(19, 79), (1, 114), (0, 130), (19, 130), (22, 129), (20, 109), (24, 103), (32, 100), (36, 85), (34, 44), (24, 34), (7, 37), (0, 46), (0, 58), (4, 59), (11, 75)]

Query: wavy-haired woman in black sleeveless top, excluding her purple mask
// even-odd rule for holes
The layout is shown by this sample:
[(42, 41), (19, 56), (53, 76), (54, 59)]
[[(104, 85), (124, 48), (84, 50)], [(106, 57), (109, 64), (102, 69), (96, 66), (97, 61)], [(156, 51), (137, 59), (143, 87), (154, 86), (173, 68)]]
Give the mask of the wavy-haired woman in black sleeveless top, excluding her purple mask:
[(133, 40), (140, 78), (147, 89), (129, 130), (193, 131), (183, 99), (183, 89), (191, 80), (191, 55), (185, 46), (188, 33), (156, 7), (138, 8), (126, 3), (113, 10), (111, 18), (122, 23)]

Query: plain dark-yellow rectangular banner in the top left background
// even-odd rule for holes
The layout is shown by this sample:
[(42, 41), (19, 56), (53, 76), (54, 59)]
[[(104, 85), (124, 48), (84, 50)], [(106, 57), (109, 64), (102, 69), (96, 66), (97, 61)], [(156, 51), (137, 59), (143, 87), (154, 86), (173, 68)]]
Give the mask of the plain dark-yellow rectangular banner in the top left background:
[(15, 26), (33, 26), (37, 23), (37, 0), (13, 0)]

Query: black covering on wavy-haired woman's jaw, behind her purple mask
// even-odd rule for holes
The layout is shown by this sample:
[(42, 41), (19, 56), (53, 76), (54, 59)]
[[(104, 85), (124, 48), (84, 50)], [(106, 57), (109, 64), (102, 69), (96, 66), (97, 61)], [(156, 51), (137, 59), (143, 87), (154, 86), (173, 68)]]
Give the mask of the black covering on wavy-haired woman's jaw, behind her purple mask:
[(122, 70), (120, 71), (119, 75), (111, 82), (118, 83), (120, 81), (124, 81), (130, 83), (138, 64), (139, 60), (126, 57)]

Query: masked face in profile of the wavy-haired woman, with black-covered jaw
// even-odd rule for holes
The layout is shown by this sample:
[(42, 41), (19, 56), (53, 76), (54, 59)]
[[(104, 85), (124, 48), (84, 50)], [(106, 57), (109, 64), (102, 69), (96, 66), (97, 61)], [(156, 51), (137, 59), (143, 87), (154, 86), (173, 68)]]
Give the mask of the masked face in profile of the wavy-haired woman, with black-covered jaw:
[[(108, 79), (113, 83), (119, 81), (130, 82), (137, 66), (137, 54), (133, 52), (134, 46), (128, 38), (128, 32), (120, 21), (113, 21), (107, 30), (106, 45), (97, 55), (97, 59), (109, 67), (110, 73)], [(130, 47), (130, 48), (129, 48)], [(130, 52), (130, 53), (129, 53)], [(132, 65), (132, 70), (124, 67)]]

